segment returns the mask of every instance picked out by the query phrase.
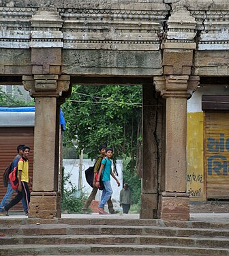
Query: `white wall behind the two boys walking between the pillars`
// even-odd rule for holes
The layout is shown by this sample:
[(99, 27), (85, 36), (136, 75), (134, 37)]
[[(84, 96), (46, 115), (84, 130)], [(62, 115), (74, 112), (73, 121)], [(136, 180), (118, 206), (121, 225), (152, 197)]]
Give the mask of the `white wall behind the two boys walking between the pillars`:
[[(89, 168), (90, 166), (94, 165), (95, 160), (91, 161), (89, 159), (84, 159), (82, 161), (82, 179), (79, 177), (80, 173), (80, 160), (79, 159), (63, 159), (63, 167), (65, 168), (65, 174), (70, 173), (70, 182), (74, 186), (77, 186), (79, 188), (82, 188), (83, 193), (90, 195), (91, 193), (91, 186), (87, 183), (85, 179), (85, 170)], [(112, 202), (114, 204), (115, 208), (119, 208), (119, 194), (120, 190), (123, 188), (123, 160), (117, 160), (117, 172), (118, 172), (118, 180), (121, 184), (121, 186), (117, 186), (117, 182), (110, 177), (111, 186), (113, 190), (112, 194)], [(95, 200), (100, 200), (100, 196), (102, 195), (102, 191), (98, 190)]]

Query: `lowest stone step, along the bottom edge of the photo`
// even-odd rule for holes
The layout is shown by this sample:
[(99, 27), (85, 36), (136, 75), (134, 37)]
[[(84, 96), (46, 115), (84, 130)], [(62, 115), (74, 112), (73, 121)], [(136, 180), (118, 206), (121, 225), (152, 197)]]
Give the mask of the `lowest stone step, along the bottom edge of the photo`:
[(1, 246), (0, 256), (18, 255), (198, 255), (228, 256), (228, 248), (129, 244), (24, 244)]

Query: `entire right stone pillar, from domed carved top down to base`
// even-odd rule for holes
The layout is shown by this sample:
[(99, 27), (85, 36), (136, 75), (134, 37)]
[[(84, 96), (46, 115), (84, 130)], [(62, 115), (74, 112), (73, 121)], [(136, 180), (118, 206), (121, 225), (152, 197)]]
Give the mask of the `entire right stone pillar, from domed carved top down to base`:
[(186, 193), (187, 98), (198, 85), (192, 76), (196, 49), (196, 20), (186, 8), (174, 8), (168, 18), (163, 49), (164, 76), (155, 77), (156, 90), (166, 99), (165, 191), (162, 193), (164, 220), (189, 220)]

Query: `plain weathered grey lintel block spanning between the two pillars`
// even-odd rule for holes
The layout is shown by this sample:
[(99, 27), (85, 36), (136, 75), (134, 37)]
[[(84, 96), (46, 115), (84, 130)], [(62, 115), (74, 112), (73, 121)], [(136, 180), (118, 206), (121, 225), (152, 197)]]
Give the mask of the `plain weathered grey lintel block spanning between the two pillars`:
[(162, 55), (160, 51), (63, 50), (62, 72), (153, 76), (162, 74)]

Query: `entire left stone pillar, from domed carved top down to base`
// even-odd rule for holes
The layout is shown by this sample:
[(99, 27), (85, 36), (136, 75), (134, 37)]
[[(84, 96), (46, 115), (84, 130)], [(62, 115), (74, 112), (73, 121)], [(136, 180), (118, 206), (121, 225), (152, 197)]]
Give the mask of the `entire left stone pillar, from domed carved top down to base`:
[(29, 217), (61, 217), (59, 192), (60, 98), (70, 76), (61, 75), (63, 24), (57, 12), (41, 10), (31, 18), (32, 75), (23, 76), (25, 89), (35, 98), (33, 191)]

